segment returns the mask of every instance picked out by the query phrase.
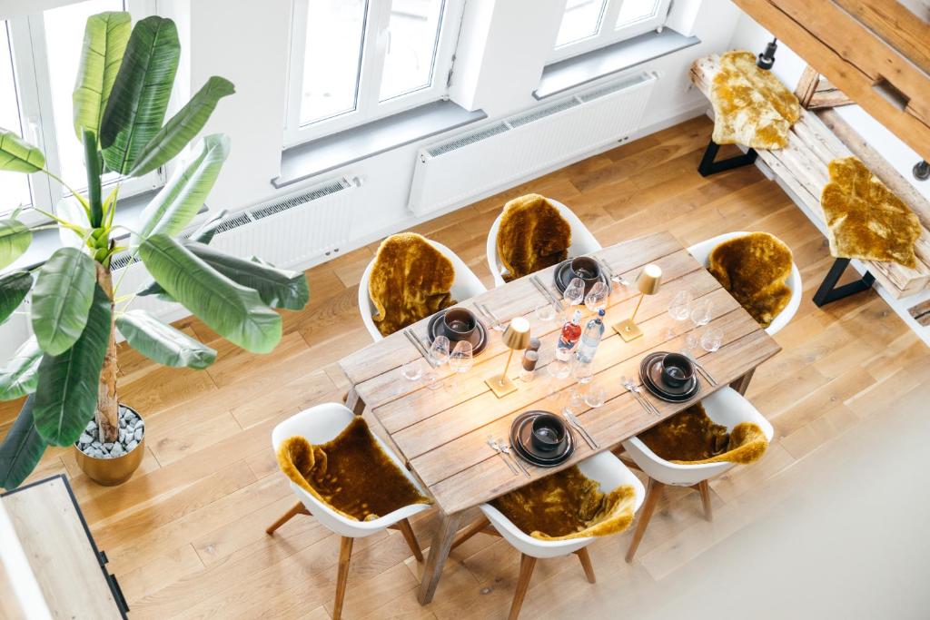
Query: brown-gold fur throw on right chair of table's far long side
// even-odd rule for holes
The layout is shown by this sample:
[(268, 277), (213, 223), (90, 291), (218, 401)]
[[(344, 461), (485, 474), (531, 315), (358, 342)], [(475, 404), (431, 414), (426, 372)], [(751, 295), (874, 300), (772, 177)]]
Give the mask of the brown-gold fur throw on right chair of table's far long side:
[(497, 243), (510, 282), (565, 260), (572, 227), (548, 200), (530, 193), (504, 205)]

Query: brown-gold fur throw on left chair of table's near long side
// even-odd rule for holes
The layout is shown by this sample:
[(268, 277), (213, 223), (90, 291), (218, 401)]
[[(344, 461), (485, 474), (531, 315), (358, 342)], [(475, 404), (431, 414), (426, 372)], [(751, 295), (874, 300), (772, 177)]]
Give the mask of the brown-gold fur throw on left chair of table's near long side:
[(534, 538), (567, 540), (627, 529), (635, 499), (632, 486), (602, 493), (596, 481), (572, 467), (498, 497), (491, 506)]

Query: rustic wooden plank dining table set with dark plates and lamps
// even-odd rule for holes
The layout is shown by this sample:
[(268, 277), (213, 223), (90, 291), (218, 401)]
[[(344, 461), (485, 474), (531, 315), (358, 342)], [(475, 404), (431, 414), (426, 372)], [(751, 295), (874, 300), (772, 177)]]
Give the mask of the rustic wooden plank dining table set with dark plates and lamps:
[[(401, 332), (339, 362), (352, 384), (347, 404), (356, 414), (370, 412), (367, 417), (373, 430), (397, 451), (429, 490), (440, 511), (440, 526), (434, 534), (419, 588), (422, 604), (432, 600), (466, 510), (576, 465), (597, 452), (613, 450), (624, 440), (674, 416), (722, 386), (732, 385), (744, 393), (755, 368), (780, 350), (776, 341), (669, 233), (659, 232), (604, 247), (591, 256), (603, 259), (627, 282), (635, 281), (644, 265), (655, 263), (662, 270), (662, 283), (656, 295), (644, 297), (636, 315), (643, 336), (630, 342), (624, 342), (610, 326), (631, 316), (639, 291), (631, 286), (613, 285), (604, 317), (607, 328), (593, 361), (593, 381), (605, 389), (605, 402), (597, 408), (577, 411), (580, 423), (598, 448), (592, 450), (576, 433), (574, 453), (558, 467), (538, 468), (526, 463), (530, 477), (515, 475), (487, 444), (488, 437), (509, 437), (512, 420), (525, 411), (560, 411), (567, 394), (577, 385), (572, 376), (553, 378), (547, 373), (562, 323), (538, 318), (536, 309), (546, 299), (530, 282), (531, 276), (476, 297), (459, 299), (457, 304), (479, 317), (475, 304), (483, 304), (504, 323), (523, 316), (530, 323), (532, 335), (542, 342), (535, 379), (520, 380), (520, 364), (512, 363), (508, 375), (518, 389), (502, 398), (488, 388), (485, 379), (503, 370), (509, 350), (500, 332), (489, 327), (489, 342), (475, 356), (470, 370), (454, 379), (448, 364), (436, 369), (444, 383), (442, 389), (428, 389), (422, 380), (405, 379), (402, 365), (417, 360), (421, 354)], [(540, 270), (535, 275), (560, 297), (553, 282), (554, 269)], [(647, 353), (683, 349), (686, 333), (694, 329), (693, 323), (675, 321), (668, 312), (671, 300), (680, 291), (690, 292), (695, 299), (711, 301), (709, 324), (721, 330), (723, 346), (712, 353), (698, 347), (692, 354), (716, 380), (716, 385), (702, 381), (700, 392), (689, 402), (664, 402), (648, 395), (649, 401), (658, 407), (657, 416), (647, 412), (623, 387), (621, 377), (631, 377), (639, 383), (639, 365)], [(412, 325), (420, 338), (427, 336), (428, 321)], [(698, 335), (704, 329), (697, 328)]]

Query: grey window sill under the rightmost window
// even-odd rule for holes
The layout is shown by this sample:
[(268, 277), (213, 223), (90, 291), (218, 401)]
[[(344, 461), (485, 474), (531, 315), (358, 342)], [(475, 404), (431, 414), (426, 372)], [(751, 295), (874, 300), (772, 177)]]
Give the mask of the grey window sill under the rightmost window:
[(538, 100), (560, 95), (576, 86), (587, 84), (611, 73), (626, 71), (638, 64), (658, 59), (667, 54), (697, 46), (697, 36), (684, 36), (671, 28), (660, 33), (645, 33), (620, 41), (611, 46), (560, 60), (542, 70), (539, 86), (533, 91)]

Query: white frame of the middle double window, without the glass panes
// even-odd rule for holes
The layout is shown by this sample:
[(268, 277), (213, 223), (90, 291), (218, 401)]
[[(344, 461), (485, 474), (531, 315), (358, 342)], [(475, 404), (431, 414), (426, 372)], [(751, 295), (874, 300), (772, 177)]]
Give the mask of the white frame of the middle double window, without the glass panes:
[(367, 0), (365, 7), (362, 48), (359, 50), (358, 82), (355, 86), (355, 108), (333, 116), (300, 125), (300, 103), (303, 90), (303, 63), (306, 47), (307, 11), (310, 0), (291, 3), (290, 45), (287, 70), (287, 99), (284, 126), (284, 148), (339, 131), (364, 125), (424, 103), (445, 99), (448, 80), (458, 44), (458, 31), (464, 10), (463, 0), (443, 0), (442, 16), (436, 34), (435, 58), (431, 82), (416, 90), (379, 101), (381, 75), (387, 54), (392, 0)]

